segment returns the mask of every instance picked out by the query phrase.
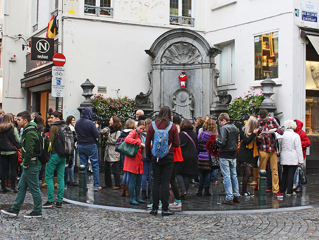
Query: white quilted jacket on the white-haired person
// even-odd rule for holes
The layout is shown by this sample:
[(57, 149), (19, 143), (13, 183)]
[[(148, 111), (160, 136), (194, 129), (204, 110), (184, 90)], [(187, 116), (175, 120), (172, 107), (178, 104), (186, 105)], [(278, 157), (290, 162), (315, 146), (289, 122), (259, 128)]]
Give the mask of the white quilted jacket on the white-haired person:
[(281, 165), (298, 165), (304, 163), (301, 140), (293, 129), (286, 129), (280, 146), (280, 164)]

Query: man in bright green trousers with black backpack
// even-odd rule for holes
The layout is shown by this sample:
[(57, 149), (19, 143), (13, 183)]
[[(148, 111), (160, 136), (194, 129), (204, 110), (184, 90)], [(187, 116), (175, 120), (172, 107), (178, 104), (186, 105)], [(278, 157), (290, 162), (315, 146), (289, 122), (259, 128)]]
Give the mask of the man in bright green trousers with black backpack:
[[(66, 167), (66, 157), (68, 153), (73, 154), (74, 139), (71, 129), (63, 120), (63, 114), (54, 111), (51, 114), (51, 126), (49, 133), (49, 140), (52, 143), (52, 152), (45, 169), (45, 180), (48, 190), (47, 202), (42, 205), (42, 208), (57, 207), (62, 208), (62, 201), (64, 195), (64, 170)], [(57, 202), (54, 203), (54, 170), (57, 172), (58, 183), (58, 197)]]

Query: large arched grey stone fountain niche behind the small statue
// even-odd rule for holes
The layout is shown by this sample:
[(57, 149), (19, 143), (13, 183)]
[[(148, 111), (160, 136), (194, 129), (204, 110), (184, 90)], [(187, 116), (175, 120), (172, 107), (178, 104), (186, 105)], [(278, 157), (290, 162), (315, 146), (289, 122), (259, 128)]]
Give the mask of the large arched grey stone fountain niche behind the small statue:
[[(217, 88), (218, 71), (212, 48), (197, 32), (178, 28), (169, 30), (152, 44), (146, 53), (152, 57), (150, 88), (136, 96), (138, 108), (157, 111), (169, 106), (185, 118), (227, 111), (231, 96)], [(178, 76), (186, 70), (186, 87), (180, 87)]]

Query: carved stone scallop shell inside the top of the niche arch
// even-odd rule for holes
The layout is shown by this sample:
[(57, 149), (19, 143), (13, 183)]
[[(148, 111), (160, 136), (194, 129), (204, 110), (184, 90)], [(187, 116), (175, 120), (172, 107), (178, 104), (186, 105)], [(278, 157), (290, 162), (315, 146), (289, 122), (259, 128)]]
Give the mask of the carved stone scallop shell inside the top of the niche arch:
[(166, 48), (161, 62), (163, 64), (196, 64), (202, 62), (202, 55), (194, 45), (178, 42)]

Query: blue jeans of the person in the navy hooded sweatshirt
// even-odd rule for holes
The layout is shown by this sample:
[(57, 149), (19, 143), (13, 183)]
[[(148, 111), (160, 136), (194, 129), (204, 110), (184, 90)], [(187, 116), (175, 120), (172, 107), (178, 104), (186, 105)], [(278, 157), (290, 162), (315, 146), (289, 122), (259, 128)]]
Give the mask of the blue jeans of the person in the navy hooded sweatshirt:
[(86, 171), (88, 167), (88, 160), (90, 159), (91, 167), (93, 171), (93, 185), (100, 186), (100, 169), (99, 169), (99, 155), (98, 155), (98, 147), (96, 144), (93, 145), (78, 145), (78, 153), (81, 164), (85, 166), (85, 181), (86, 179)]

